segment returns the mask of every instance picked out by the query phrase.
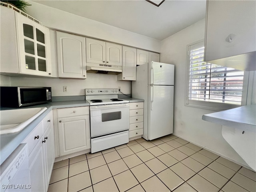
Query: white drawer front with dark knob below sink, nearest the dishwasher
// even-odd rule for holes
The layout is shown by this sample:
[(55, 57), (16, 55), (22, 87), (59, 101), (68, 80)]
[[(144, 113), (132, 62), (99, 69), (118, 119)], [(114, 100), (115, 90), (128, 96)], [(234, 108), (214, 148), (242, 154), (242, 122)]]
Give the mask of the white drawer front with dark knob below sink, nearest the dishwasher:
[(38, 142), (42, 142), (43, 123), (42, 121), (34, 128), (34, 130), (23, 140), (22, 143), (28, 144), (28, 154), (32, 152)]

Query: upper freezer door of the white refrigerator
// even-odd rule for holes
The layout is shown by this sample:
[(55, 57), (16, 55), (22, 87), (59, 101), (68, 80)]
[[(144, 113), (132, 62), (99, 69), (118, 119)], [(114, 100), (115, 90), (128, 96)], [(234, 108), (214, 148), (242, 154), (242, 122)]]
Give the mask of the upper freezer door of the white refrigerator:
[(149, 85), (174, 85), (174, 65), (152, 61), (148, 66)]

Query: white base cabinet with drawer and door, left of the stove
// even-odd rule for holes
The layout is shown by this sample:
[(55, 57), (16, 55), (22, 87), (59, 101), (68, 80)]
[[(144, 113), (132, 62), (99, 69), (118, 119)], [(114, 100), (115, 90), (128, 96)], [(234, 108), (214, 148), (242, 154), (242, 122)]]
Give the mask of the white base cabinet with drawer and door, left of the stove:
[(90, 149), (89, 107), (57, 109), (59, 156)]

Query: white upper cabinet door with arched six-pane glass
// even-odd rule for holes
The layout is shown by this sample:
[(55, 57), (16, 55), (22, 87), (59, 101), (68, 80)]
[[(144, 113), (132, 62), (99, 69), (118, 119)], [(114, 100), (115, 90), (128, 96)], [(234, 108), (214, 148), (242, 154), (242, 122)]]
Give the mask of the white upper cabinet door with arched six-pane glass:
[(20, 73), (51, 77), (49, 29), (15, 14)]

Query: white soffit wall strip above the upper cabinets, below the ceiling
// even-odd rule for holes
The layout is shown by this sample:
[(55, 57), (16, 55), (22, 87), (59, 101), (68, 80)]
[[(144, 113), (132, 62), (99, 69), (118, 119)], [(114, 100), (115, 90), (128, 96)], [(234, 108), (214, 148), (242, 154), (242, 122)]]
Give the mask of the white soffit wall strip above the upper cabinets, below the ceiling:
[(136, 34), (134, 32), (123, 30), (88, 18), (83, 18), (36, 2), (29, 1), (29, 3), (31, 6), (26, 8), (27, 13), (49, 28), (99, 38), (127, 46), (134, 46), (136, 48), (151, 50), (153, 52), (160, 52), (160, 40)]

